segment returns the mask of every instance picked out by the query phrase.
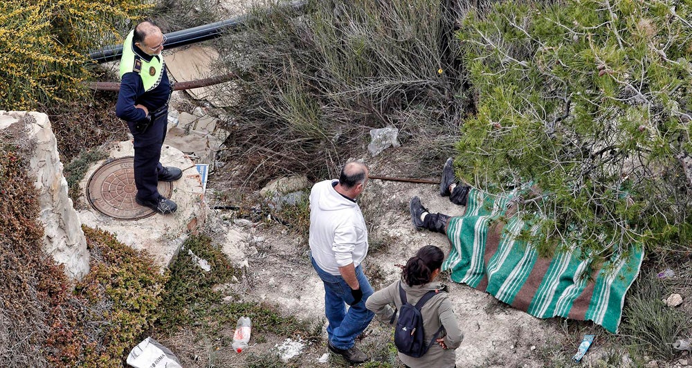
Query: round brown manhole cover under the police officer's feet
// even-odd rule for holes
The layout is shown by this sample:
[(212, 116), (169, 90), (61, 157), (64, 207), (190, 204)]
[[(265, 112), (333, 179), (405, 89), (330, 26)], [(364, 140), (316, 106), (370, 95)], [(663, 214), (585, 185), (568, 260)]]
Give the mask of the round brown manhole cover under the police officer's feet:
[[(154, 210), (134, 201), (137, 188), (134, 185), (134, 157), (115, 158), (104, 163), (86, 183), (86, 199), (91, 206), (120, 220), (137, 220), (155, 214)], [(158, 182), (158, 192), (166, 198), (173, 193), (173, 183)]]

